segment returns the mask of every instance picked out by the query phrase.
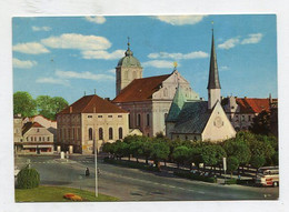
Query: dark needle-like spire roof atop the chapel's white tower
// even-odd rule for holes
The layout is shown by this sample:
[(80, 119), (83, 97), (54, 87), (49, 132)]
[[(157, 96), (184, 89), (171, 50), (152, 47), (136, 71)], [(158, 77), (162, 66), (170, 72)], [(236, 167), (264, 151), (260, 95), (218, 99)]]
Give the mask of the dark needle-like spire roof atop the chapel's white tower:
[[(213, 24), (213, 22), (212, 22)], [(209, 72), (209, 82), (207, 89), (221, 89), (218, 64), (217, 64), (217, 55), (215, 50), (215, 39), (213, 39), (213, 28), (212, 38), (211, 38), (211, 59), (210, 59), (210, 72)]]

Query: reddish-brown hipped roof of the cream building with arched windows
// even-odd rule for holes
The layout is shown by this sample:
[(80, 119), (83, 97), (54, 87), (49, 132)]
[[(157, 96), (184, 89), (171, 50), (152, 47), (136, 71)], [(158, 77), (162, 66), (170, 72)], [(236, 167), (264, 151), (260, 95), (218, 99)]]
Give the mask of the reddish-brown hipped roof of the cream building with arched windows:
[(98, 95), (84, 95), (58, 114), (67, 113), (128, 113)]

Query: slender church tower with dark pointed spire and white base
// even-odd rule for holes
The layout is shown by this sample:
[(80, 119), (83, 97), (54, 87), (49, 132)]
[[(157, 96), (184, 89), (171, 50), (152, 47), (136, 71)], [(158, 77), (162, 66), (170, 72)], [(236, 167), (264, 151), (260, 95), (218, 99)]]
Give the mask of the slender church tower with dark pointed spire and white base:
[(213, 29), (211, 40), (210, 72), (208, 82), (208, 109), (212, 109), (217, 101), (221, 102), (221, 85), (219, 80), (217, 55), (215, 50)]

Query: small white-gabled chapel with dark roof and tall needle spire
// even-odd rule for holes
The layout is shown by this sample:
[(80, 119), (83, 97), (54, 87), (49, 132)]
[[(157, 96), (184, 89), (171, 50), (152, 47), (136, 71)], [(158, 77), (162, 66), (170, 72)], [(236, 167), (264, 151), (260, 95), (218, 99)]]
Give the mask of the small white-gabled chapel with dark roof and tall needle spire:
[(212, 32), (208, 101), (189, 100), (178, 87), (166, 119), (167, 137), (191, 141), (218, 142), (236, 137), (236, 131), (221, 107), (221, 85)]

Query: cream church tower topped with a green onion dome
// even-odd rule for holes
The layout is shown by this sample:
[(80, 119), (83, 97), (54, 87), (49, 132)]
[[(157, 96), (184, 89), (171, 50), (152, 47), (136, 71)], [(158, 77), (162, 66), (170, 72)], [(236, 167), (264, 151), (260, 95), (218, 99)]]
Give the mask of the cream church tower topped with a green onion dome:
[(130, 42), (128, 38), (128, 50), (124, 57), (121, 58), (116, 68), (117, 79), (116, 79), (116, 95), (120, 93), (130, 82), (134, 79), (142, 78), (142, 67), (137, 58), (133, 57), (130, 50)]

